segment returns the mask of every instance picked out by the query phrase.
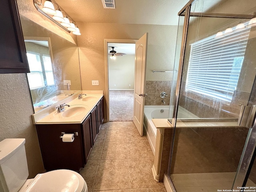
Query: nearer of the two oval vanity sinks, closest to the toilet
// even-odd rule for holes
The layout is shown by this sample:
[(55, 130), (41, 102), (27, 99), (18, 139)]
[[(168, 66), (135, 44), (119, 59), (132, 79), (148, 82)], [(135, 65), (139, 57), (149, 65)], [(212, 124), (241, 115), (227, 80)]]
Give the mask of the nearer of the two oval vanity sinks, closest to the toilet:
[(74, 117), (80, 114), (83, 114), (86, 111), (87, 105), (73, 105), (70, 107), (65, 107), (65, 110), (60, 113), (55, 113), (54, 116), (62, 116), (62, 117)]

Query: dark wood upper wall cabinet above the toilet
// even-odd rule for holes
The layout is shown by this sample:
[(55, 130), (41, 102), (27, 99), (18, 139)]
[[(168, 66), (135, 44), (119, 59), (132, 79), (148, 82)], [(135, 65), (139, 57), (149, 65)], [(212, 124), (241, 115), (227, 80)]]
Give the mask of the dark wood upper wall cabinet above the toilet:
[(29, 73), (15, 0), (1, 0), (0, 73)]

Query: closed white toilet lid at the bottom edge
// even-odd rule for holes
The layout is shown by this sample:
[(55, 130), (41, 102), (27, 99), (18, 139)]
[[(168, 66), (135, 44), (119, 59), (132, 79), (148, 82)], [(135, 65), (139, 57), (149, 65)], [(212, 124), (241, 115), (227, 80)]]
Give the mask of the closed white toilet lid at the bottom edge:
[(54, 170), (38, 174), (24, 192), (84, 192), (84, 178), (72, 170)]

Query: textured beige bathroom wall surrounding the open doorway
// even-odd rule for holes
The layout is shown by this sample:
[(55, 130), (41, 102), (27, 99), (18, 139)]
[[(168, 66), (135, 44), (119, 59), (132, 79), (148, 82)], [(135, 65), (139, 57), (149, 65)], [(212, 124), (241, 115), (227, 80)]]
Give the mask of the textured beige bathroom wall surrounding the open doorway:
[[(172, 70), (177, 26), (112, 23), (78, 23), (80, 70), (83, 90), (104, 90), (104, 39), (139, 39), (148, 32), (146, 80), (171, 80), (171, 73), (153, 73), (152, 70)], [(97, 79), (95, 79), (97, 78)], [(92, 86), (99, 80), (99, 86)]]

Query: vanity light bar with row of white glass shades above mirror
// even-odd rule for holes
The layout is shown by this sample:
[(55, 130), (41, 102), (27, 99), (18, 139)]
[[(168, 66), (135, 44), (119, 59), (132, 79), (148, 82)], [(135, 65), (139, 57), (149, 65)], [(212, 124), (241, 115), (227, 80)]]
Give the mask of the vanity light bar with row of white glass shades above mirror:
[[(75, 35), (81, 35), (80, 30), (74, 24), (75, 22), (72, 21), (72, 19), (68, 16), (68, 14), (66, 14), (66, 12), (64, 12), (64, 10), (61, 10), (59, 5), (54, 2), (54, 0), (33, 0), (33, 2), (34, 6), (40, 13), (52, 20), (58, 26), (69, 33), (72, 32)], [(56, 6), (54, 7), (54, 5), (57, 5), (56, 9)]]

